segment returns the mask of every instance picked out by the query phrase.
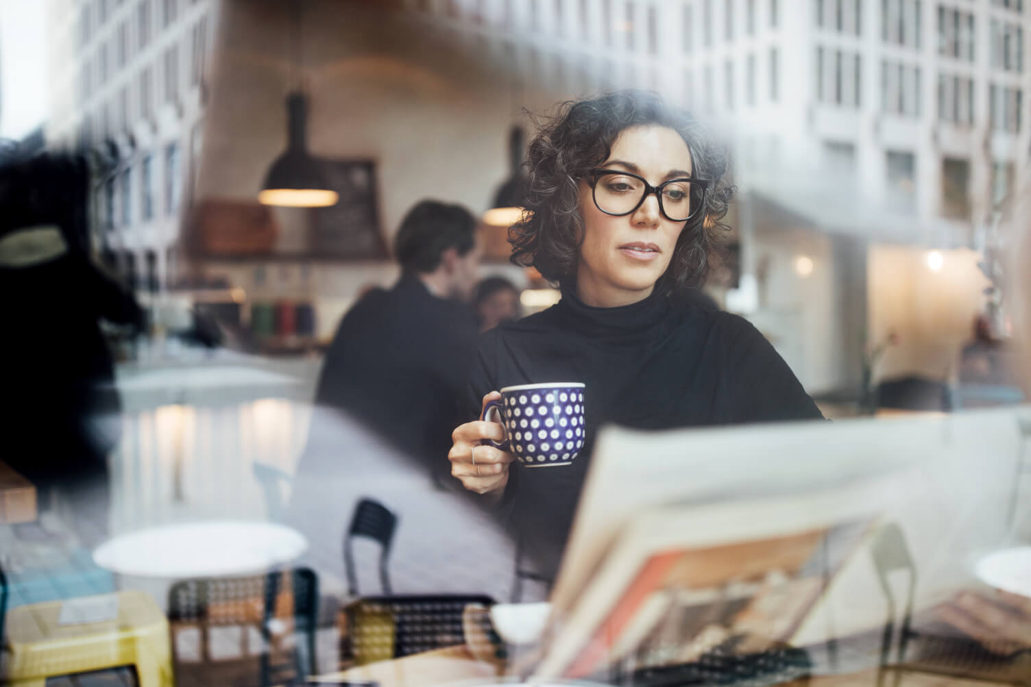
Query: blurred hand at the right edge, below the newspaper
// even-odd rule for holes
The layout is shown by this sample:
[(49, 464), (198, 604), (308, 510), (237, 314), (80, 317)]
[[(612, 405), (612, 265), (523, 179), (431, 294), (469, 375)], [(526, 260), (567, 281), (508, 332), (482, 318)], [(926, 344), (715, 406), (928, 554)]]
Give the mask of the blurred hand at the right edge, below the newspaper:
[(992, 653), (1031, 649), (1031, 598), (1026, 596), (963, 591), (938, 607), (937, 616)]

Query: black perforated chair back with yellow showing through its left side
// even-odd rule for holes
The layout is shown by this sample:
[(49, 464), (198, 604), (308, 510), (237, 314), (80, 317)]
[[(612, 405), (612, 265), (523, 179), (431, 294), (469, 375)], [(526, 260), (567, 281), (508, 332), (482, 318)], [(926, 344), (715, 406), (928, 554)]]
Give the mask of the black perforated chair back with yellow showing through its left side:
[[(486, 612), (494, 603), (493, 598), (483, 594), (369, 596), (356, 599), (341, 610), (342, 664), (366, 665), (462, 645), (467, 640), (466, 609), (474, 606)], [(493, 629), (489, 632), (491, 643), (500, 647), (500, 638), (493, 633)]]

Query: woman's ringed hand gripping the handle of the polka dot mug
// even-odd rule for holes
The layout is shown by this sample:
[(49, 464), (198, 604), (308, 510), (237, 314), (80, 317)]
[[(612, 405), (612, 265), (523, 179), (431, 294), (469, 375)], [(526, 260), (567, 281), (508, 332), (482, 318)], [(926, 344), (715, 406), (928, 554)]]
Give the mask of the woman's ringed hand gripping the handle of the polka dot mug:
[[(488, 401), (500, 399), (501, 394), (491, 391), (484, 397), (484, 407)], [(473, 420), (460, 424), (452, 433), (454, 445), (447, 453), (452, 461), (452, 475), (462, 482), (462, 486), (476, 493), (490, 493), (500, 499), (508, 484), (508, 463), (516, 459), (511, 453), (480, 444), (484, 439), (500, 442), (505, 438), (504, 430), (497, 422)], [(476, 461), (473, 463), (473, 451)]]

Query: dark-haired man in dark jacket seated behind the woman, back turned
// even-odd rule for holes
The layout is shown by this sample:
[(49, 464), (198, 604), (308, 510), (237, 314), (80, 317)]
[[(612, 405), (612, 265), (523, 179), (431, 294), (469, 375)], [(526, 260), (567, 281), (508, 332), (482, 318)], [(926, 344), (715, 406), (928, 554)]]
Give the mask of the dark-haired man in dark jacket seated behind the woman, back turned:
[(467, 305), (481, 252), (475, 229), (459, 205), (426, 200), (408, 212), (394, 242), (400, 279), (344, 315), (315, 392), (318, 406), (348, 413), (435, 479), (445, 477), (436, 457), (451, 446), (476, 346)]

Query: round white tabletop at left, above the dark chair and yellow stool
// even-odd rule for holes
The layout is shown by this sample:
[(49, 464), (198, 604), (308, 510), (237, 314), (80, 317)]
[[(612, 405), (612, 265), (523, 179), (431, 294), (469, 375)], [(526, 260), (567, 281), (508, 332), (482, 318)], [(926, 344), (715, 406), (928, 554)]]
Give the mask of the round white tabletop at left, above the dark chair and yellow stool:
[(133, 577), (226, 577), (267, 572), (307, 548), (304, 536), (286, 525), (209, 520), (120, 535), (98, 546), (93, 560)]

